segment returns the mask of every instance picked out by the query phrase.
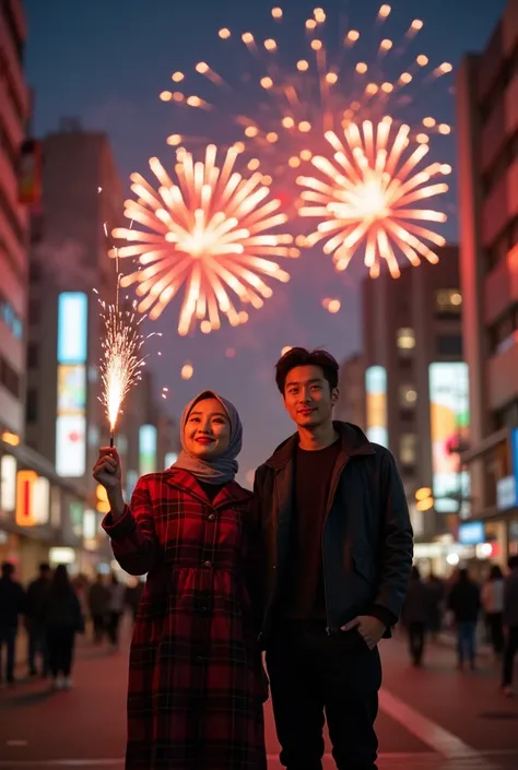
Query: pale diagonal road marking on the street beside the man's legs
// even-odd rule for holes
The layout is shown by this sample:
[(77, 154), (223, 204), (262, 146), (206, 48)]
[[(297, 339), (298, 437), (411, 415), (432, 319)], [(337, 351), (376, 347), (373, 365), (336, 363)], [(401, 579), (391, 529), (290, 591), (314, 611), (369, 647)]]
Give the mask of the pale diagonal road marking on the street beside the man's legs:
[[(445, 730), (440, 725), (424, 716), (400, 698), (397, 698), (386, 689), (379, 692), (379, 708), (396, 722), (399, 722), (407, 732), (412, 733), (447, 759), (472, 758), (482, 759), (482, 754), (468, 746), (457, 735)], [(482, 767), (482, 766), (481, 766)], [(488, 766), (490, 767), (490, 766)]]

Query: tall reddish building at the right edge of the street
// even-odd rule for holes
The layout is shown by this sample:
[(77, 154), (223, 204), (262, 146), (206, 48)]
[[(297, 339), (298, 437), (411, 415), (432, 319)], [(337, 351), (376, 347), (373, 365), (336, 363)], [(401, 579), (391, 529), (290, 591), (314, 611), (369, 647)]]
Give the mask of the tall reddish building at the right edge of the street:
[(471, 537), (518, 553), (518, 0), (457, 76)]

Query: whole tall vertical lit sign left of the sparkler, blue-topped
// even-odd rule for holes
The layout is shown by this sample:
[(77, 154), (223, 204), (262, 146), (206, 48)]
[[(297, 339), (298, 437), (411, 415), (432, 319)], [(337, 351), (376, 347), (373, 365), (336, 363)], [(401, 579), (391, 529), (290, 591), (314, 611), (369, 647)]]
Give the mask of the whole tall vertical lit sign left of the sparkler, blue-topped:
[(58, 298), (56, 471), (78, 478), (86, 471), (86, 354), (89, 299), (83, 292)]

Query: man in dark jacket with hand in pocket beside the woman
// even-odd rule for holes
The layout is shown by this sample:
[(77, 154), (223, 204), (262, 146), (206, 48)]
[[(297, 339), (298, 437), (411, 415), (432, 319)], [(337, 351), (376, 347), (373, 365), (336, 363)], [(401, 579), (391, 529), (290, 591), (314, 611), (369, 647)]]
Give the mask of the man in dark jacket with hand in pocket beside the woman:
[(292, 348), (276, 384), (297, 433), (256, 473), (266, 556), (263, 647), (281, 762), (320, 770), (325, 713), (340, 770), (376, 770), (381, 666), (412, 567), (390, 452), (332, 420), (339, 366)]

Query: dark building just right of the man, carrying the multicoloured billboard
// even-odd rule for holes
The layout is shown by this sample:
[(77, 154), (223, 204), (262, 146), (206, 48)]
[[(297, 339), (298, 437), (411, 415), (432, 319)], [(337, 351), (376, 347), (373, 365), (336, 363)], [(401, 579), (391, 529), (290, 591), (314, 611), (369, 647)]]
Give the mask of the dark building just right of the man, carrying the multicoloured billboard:
[(365, 428), (398, 461), (422, 555), (437, 537), (457, 541), (469, 507), (457, 452), (469, 420), (458, 249), (438, 253), (438, 264), (363, 283)]

